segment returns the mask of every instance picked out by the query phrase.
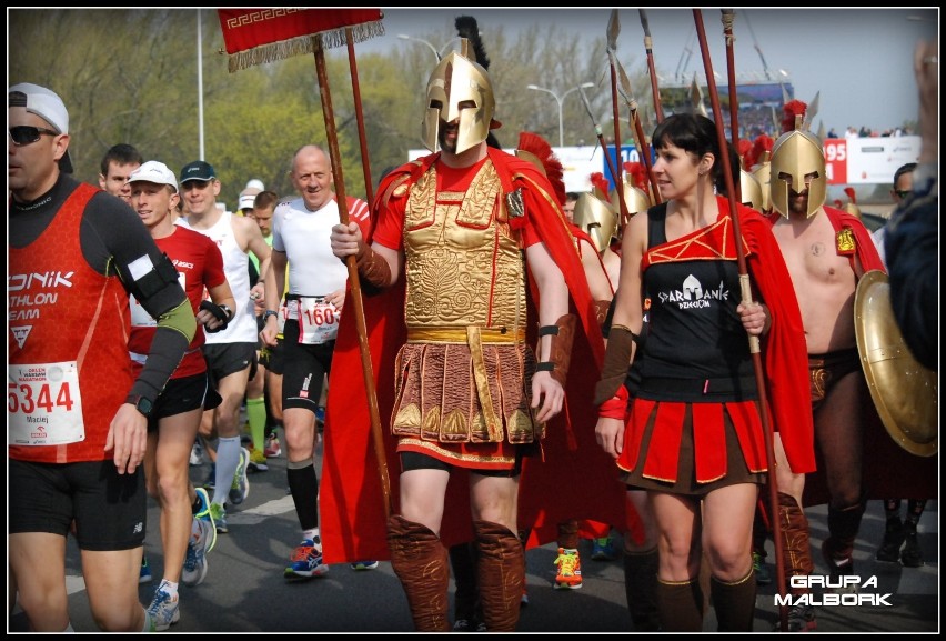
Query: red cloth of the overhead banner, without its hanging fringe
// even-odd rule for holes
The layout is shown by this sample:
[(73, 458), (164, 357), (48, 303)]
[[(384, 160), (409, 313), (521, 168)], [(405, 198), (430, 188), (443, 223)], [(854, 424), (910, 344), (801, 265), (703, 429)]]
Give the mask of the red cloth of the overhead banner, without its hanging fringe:
[(219, 9), (227, 53), (381, 20), (381, 9)]

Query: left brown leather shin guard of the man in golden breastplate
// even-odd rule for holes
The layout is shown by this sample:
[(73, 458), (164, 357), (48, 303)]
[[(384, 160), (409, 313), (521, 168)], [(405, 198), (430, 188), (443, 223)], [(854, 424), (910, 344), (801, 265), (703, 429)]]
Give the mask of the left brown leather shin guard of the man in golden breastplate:
[(391, 567), (407, 595), (414, 628), (419, 632), (449, 632), (450, 567), (440, 537), (421, 523), (394, 514), (388, 520), (388, 548)]

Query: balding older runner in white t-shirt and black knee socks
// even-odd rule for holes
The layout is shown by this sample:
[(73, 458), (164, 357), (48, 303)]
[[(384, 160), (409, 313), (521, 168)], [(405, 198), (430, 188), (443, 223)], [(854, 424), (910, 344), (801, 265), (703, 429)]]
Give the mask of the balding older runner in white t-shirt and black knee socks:
[[(332, 364), (348, 269), (329, 244), (332, 227), (340, 222), (329, 157), (315, 146), (302, 147), (293, 158), (291, 177), (301, 198), (278, 206), (273, 216), (272, 264), (276, 287), (266, 288), (266, 325), (260, 335), (266, 344), (276, 342), (275, 310), (285, 291), (289, 264), (282, 403), (289, 457), (286, 474), (302, 542), (293, 551), (284, 574), (286, 579), (311, 579), (329, 571), (322, 562), (316, 504), (319, 479), (312, 450), (315, 410), (323, 379)], [(346, 203), (351, 220), (368, 232), (368, 203), (351, 197)], [(361, 563), (358, 568), (372, 565)]]

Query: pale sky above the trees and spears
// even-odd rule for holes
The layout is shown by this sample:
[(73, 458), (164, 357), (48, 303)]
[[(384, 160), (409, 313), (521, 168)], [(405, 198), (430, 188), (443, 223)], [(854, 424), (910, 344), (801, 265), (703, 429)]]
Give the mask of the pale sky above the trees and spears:
[[(359, 44), (359, 51), (425, 47), (402, 40), (404, 33), (444, 47), (456, 36), (453, 19), (476, 18), (487, 53), (490, 29), (501, 24), (510, 37), (525, 26), (554, 23), (582, 33), (583, 40), (605, 40), (611, 8), (596, 9), (383, 9), (385, 34)], [(767, 68), (789, 73), (795, 98), (818, 98), (813, 130), (824, 123), (843, 134), (848, 126), (883, 131), (917, 119), (919, 102), (913, 72), (914, 47), (919, 39), (938, 41), (939, 10), (905, 9), (738, 9), (733, 24), (737, 73), (758, 73)], [(706, 77), (691, 9), (647, 9), (654, 64), (658, 79), (702, 83)], [(717, 87), (726, 91), (726, 50), (718, 8), (703, 10)], [(617, 57), (628, 73), (646, 69), (644, 30), (640, 13), (620, 9)], [(434, 40), (433, 33), (440, 39)], [(757, 49), (756, 49), (757, 47)], [(686, 51), (692, 50), (692, 54)], [(761, 51), (761, 54), (759, 54)], [(688, 58), (688, 61), (687, 61)], [(765, 67), (763, 66), (763, 58)], [(431, 56), (433, 64), (433, 56)], [(602, 61), (602, 66), (606, 61)], [(677, 74), (677, 70), (684, 72)], [(535, 84), (555, 88), (554, 79), (536, 78)], [(638, 100), (650, 97), (637, 97)], [(500, 98), (501, 100), (501, 98)], [(705, 98), (708, 107), (710, 98)], [(502, 109), (500, 101), (499, 108)]]

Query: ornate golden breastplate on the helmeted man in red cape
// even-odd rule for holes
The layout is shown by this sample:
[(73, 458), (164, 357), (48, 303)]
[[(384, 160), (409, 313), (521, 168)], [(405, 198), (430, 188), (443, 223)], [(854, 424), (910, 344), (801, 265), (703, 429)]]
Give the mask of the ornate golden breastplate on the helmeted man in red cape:
[(437, 193), (435, 166), (411, 188), (404, 214), (409, 330), (525, 327), (523, 258), (501, 191), (489, 160), (465, 193)]

